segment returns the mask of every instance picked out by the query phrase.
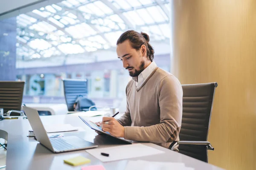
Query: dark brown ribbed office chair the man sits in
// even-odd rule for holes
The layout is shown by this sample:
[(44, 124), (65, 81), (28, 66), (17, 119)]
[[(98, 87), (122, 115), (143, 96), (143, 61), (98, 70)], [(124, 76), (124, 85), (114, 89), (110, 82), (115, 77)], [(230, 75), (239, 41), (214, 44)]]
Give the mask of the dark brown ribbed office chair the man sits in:
[(180, 141), (174, 141), (169, 149), (179, 145), (179, 153), (208, 162), (207, 150), (214, 150), (207, 141), (212, 105), (217, 82), (182, 85), (183, 113)]

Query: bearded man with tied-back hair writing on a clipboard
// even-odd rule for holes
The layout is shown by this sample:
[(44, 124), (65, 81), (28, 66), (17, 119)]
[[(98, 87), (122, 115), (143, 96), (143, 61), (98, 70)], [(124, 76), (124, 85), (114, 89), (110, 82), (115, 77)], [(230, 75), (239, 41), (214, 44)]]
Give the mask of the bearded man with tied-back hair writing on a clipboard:
[(116, 53), (132, 80), (127, 108), (119, 119), (103, 117), (102, 130), (128, 140), (169, 147), (179, 140), (183, 91), (176, 77), (158, 68), (149, 36), (130, 30), (117, 40)]

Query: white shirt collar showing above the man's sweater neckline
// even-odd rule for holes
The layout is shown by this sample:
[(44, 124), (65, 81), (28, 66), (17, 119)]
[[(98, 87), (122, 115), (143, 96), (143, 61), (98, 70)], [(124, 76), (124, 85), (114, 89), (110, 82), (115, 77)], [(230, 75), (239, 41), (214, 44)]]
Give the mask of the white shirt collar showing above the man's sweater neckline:
[(148, 76), (154, 71), (154, 69), (157, 67), (157, 64), (152, 61), (150, 65), (148, 65), (147, 68), (145, 68), (138, 77), (132, 77), (132, 79), (135, 81), (137, 89), (140, 88), (140, 86), (143, 84), (143, 82), (148, 78)]

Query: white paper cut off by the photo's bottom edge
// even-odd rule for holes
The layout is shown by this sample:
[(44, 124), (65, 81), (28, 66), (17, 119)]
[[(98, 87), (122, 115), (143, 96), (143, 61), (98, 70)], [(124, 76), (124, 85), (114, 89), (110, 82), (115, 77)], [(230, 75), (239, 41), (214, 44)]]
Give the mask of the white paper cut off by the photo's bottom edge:
[(176, 162), (155, 162), (155, 161), (128, 161), (125, 170), (194, 170), (185, 167), (184, 163)]

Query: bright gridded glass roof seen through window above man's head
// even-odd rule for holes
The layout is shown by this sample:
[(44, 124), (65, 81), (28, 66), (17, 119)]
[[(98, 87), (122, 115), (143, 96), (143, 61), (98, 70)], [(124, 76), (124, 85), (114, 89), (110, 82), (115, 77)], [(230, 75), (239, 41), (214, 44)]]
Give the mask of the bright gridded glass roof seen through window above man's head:
[(146, 32), (151, 41), (170, 37), (169, 17), (159, 6), (170, 10), (169, 0), (108, 2), (114, 11), (101, 0), (63, 0), (32, 11), (43, 20), (20, 14), (17, 55), (40, 58), (108, 49), (115, 47), (119, 36), (128, 29)]

